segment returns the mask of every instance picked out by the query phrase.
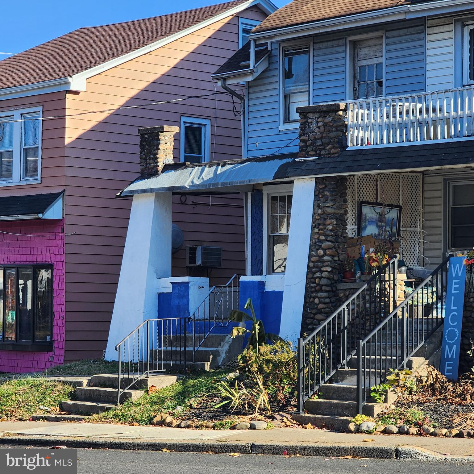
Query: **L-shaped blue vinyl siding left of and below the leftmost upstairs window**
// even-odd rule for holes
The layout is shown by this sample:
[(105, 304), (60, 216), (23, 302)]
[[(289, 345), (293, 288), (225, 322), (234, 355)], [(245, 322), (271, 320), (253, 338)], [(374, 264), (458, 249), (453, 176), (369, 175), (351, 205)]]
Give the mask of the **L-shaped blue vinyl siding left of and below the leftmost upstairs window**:
[[(290, 130), (278, 130), (280, 124), (278, 67), (278, 44), (273, 43), (268, 67), (249, 84), (248, 157), (298, 152), (298, 125)], [(290, 145), (287, 146), (288, 143)], [(282, 147), (283, 149), (280, 149)]]

